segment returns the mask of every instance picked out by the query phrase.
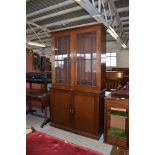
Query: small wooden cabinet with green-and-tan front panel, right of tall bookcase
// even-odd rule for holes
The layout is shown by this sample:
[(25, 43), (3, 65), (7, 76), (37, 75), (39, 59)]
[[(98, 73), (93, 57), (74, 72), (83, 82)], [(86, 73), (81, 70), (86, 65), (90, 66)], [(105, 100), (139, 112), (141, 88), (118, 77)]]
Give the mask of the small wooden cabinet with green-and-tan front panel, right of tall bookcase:
[(122, 91), (118, 93), (115, 91), (112, 92), (112, 96), (105, 97), (104, 142), (124, 149), (129, 147), (129, 96), (127, 91), (124, 91), (124, 94)]

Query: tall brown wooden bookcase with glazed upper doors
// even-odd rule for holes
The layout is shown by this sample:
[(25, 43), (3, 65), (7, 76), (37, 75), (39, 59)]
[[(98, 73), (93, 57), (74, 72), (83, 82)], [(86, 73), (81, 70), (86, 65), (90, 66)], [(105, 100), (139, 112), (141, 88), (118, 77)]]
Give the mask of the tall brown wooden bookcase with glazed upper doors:
[(51, 125), (98, 139), (103, 132), (106, 30), (52, 32)]

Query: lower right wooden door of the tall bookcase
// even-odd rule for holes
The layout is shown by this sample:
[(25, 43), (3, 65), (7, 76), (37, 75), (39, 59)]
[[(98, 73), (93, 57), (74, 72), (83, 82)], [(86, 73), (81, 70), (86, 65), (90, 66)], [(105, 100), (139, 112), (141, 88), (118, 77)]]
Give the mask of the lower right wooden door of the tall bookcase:
[(94, 94), (76, 93), (74, 96), (74, 127), (97, 134), (98, 105)]

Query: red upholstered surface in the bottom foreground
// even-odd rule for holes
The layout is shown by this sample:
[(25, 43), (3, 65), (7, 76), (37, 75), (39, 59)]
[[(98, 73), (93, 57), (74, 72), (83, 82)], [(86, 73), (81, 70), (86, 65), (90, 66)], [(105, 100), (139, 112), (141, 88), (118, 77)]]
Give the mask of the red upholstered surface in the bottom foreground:
[(103, 155), (39, 131), (26, 135), (26, 155)]

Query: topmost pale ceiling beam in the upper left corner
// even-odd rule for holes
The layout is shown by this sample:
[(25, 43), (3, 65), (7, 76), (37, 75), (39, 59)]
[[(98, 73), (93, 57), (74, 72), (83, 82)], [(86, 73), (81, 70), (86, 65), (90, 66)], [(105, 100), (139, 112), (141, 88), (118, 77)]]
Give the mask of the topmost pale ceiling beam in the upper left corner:
[(62, 7), (62, 6), (66, 6), (66, 5), (69, 5), (69, 4), (73, 4), (74, 1), (73, 0), (67, 0), (67, 1), (64, 1), (62, 3), (58, 3), (58, 4), (55, 4), (55, 5), (51, 5), (47, 8), (44, 8), (44, 9), (40, 9), (38, 11), (34, 11), (32, 13), (29, 13), (26, 15), (26, 17), (31, 17), (31, 16), (34, 16), (34, 15), (37, 15), (37, 14), (40, 14), (40, 13), (43, 13), (43, 12), (46, 12), (46, 11), (50, 11), (50, 10), (53, 10), (53, 9), (56, 9), (56, 8), (59, 8), (59, 7)]

